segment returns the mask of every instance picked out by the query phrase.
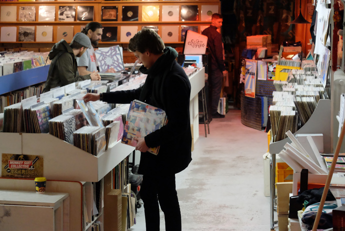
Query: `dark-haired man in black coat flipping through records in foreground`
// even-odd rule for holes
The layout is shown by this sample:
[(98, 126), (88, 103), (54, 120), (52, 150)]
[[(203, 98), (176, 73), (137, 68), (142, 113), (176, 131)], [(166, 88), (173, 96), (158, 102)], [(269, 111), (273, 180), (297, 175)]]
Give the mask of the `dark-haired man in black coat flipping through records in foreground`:
[[(140, 196), (144, 202), (147, 231), (159, 230), (159, 205), (164, 212), (166, 231), (181, 230), (181, 214), (175, 189), (175, 173), (191, 161), (191, 131), (189, 119), (190, 82), (176, 62), (177, 52), (165, 47), (159, 35), (151, 29), (137, 32), (128, 44), (147, 74), (142, 87), (101, 94), (87, 93), (87, 101), (129, 103), (138, 99), (166, 112), (167, 124), (143, 138), (137, 138), (136, 150), (141, 151), (138, 172), (143, 174)], [(157, 155), (147, 152), (160, 146)], [(158, 205), (159, 200), (159, 205)]]

